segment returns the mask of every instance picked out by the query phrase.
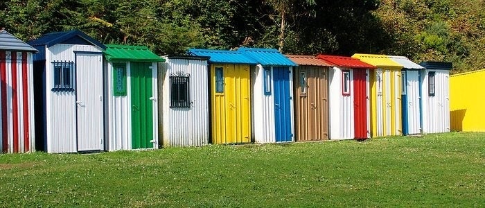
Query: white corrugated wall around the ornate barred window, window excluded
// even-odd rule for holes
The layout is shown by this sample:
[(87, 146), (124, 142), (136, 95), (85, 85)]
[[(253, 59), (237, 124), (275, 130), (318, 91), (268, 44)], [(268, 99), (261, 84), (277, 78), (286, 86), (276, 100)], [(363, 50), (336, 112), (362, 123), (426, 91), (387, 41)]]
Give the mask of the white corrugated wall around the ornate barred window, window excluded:
[[(163, 145), (202, 146), (209, 142), (209, 86), (206, 60), (170, 59), (160, 64)], [(189, 75), (191, 107), (170, 107), (170, 73)], [(160, 99), (160, 98), (159, 98)]]

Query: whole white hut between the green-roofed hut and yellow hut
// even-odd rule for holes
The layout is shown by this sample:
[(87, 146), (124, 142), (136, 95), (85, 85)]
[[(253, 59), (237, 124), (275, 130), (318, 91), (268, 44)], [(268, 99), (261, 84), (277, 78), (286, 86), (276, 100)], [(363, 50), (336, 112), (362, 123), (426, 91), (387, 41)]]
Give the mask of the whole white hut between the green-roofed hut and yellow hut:
[(160, 140), (168, 146), (209, 143), (209, 57), (171, 55), (159, 70)]

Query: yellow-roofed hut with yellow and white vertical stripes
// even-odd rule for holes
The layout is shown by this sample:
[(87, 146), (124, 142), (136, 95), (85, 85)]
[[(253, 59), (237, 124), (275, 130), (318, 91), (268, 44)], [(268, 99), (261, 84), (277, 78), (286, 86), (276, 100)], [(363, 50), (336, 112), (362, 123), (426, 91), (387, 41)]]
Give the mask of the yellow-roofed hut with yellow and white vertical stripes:
[(356, 53), (358, 58), (376, 67), (371, 70), (371, 137), (402, 135), (401, 121), (401, 69), (387, 55)]

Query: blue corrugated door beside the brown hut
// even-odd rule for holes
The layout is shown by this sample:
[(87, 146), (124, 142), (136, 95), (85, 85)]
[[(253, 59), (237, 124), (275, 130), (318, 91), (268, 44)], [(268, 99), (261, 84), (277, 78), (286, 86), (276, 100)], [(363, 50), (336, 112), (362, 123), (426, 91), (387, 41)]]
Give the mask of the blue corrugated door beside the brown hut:
[(290, 70), (273, 67), (274, 130), (276, 142), (292, 141)]

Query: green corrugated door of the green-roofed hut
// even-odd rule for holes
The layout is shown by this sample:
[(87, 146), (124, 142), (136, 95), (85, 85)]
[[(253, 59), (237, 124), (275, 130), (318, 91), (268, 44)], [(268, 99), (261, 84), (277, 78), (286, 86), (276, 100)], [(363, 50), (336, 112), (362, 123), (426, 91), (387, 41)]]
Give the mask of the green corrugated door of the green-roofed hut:
[(153, 101), (151, 63), (132, 62), (132, 149), (153, 148)]

